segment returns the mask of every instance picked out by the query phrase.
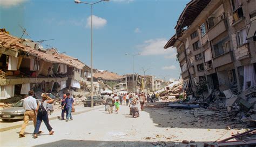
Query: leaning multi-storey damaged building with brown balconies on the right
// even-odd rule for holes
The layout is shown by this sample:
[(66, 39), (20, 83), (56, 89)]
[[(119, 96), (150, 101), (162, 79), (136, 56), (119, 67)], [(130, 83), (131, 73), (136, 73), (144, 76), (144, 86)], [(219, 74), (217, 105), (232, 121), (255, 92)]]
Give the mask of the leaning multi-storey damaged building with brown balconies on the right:
[(233, 93), (256, 85), (256, 1), (189, 2), (165, 49), (175, 47), (183, 89), (196, 93), (206, 81), (208, 92)]

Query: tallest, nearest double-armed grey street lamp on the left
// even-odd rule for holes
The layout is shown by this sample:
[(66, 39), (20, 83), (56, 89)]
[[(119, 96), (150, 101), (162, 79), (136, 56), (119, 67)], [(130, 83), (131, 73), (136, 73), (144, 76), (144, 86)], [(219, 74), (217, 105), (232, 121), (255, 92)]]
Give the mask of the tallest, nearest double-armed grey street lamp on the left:
[(92, 68), (92, 6), (94, 4), (97, 4), (99, 2), (109, 2), (109, 0), (101, 0), (101, 1), (98, 1), (98, 2), (95, 2), (95, 3), (86, 3), (86, 2), (81, 2), (79, 0), (75, 0), (75, 3), (76, 4), (80, 4), (80, 3), (83, 3), (83, 4), (87, 4), (87, 5), (91, 5), (91, 107), (93, 108), (93, 68)]

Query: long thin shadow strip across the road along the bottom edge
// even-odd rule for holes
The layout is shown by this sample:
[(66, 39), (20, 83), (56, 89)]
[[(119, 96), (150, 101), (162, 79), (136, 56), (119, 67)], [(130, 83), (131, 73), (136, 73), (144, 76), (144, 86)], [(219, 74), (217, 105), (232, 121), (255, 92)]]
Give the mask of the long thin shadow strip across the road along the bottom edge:
[[(190, 143), (190, 145), (204, 146), (204, 143), (212, 144), (209, 142), (196, 142)], [(85, 140), (68, 140), (63, 139), (56, 142), (40, 144), (36, 146), (186, 146), (181, 142), (129, 142), (129, 141), (85, 141)]]

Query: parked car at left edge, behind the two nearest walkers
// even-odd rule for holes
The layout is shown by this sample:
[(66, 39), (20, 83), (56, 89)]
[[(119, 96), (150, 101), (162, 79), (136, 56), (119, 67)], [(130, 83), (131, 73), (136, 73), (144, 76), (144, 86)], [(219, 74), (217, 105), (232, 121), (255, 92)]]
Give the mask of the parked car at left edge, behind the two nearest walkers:
[[(16, 102), (16, 104), (12, 105), (10, 108), (5, 108), (2, 111), (0, 111), (0, 119), (3, 121), (9, 121), (9, 120), (23, 120), (25, 110), (23, 109), (23, 100), (20, 100)], [(39, 101), (38, 99), (36, 100)], [(47, 104), (46, 111), (48, 112), (48, 115), (51, 115), (53, 112), (53, 106), (52, 104)]]

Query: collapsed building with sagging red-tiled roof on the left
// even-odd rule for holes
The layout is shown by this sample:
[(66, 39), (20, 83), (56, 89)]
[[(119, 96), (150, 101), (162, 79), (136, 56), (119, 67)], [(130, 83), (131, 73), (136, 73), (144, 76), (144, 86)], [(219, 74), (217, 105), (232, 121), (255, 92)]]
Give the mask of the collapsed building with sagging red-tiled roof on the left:
[(79, 95), (80, 83), (86, 81), (90, 67), (77, 58), (60, 54), (55, 48), (43, 49), (37, 42), (19, 39), (0, 31), (0, 100), (24, 98), (29, 90), (36, 97), (42, 92), (58, 95), (68, 88)]

